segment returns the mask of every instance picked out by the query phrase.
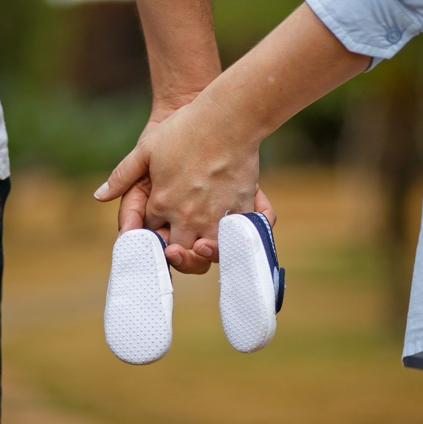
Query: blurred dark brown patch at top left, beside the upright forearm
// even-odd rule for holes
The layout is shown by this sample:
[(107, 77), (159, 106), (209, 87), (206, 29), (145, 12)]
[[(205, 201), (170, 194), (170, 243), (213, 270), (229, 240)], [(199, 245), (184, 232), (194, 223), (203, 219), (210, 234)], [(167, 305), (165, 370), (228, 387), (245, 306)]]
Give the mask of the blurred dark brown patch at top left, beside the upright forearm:
[(135, 2), (73, 5), (67, 14), (68, 80), (91, 95), (148, 90), (147, 53)]

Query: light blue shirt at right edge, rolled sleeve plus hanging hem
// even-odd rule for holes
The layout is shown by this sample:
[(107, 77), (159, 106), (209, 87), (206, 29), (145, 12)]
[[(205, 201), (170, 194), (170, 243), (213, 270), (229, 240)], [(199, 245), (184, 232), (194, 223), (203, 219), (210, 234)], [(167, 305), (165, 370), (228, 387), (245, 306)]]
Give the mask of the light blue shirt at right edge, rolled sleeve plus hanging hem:
[[(423, 0), (306, 0), (345, 48), (391, 59), (423, 32)], [(423, 369), (423, 217), (411, 287), (403, 364)]]

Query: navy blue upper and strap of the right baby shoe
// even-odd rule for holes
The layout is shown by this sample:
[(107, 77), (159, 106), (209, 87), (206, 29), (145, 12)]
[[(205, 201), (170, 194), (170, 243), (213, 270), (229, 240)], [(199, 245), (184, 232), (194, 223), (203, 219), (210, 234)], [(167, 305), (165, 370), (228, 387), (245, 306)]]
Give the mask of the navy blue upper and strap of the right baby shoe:
[[(283, 296), (285, 292), (285, 269), (284, 268), (279, 269), (279, 263), (276, 257), (276, 253), (273, 249), (273, 246), (274, 246), (273, 233), (271, 233), (271, 235), (269, 234), (266, 224), (254, 212), (244, 213), (241, 215), (244, 215), (245, 217), (247, 217), (254, 224), (254, 227), (257, 229), (258, 234), (260, 235), (261, 242), (263, 243), (264, 251), (266, 252), (267, 262), (269, 263), (270, 275), (273, 276), (273, 272), (275, 268), (278, 270), (279, 285), (278, 287), (275, 287), (275, 311), (277, 313), (280, 311), (282, 307), (282, 303), (283, 303)], [(269, 228), (270, 228), (270, 225), (269, 225)], [(270, 237), (272, 237), (273, 243), (272, 243), (272, 240), (270, 240)]]

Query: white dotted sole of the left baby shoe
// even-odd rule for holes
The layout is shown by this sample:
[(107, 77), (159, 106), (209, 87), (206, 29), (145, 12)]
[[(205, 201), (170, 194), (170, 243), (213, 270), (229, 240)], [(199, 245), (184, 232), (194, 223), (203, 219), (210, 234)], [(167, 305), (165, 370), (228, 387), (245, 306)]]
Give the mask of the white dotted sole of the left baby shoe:
[(122, 361), (162, 358), (172, 339), (172, 283), (163, 247), (148, 230), (124, 233), (113, 247), (104, 333)]

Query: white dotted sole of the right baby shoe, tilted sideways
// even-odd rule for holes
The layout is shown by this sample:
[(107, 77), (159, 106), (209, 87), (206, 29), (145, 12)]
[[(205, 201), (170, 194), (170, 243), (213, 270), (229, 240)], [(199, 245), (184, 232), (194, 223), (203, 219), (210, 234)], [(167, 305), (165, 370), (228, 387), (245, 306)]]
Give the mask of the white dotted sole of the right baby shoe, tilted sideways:
[(266, 253), (243, 215), (219, 223), (220, 315), (225, 335), (240, 352), (263, 348), (276, 330), (275, 294)]

